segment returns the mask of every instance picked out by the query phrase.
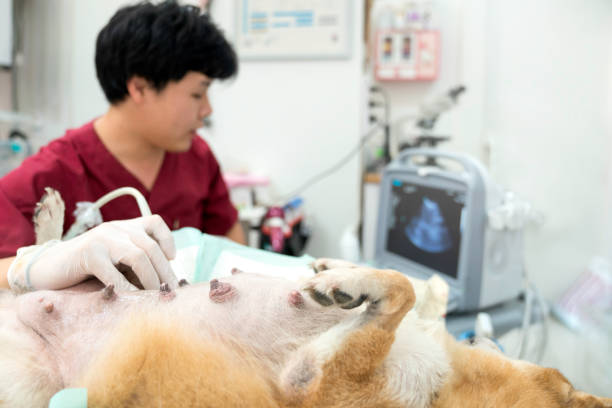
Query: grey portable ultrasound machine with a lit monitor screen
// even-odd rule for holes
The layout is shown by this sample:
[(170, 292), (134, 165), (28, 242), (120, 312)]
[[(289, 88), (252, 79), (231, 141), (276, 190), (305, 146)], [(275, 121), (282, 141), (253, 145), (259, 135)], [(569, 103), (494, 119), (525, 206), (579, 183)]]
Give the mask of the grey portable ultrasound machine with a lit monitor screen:
[(467, 155), (407, 149), (384, 170), (376, 264), (448, 282), (449, 311), (516, 298), (523, 287), (522, 229), (490, 223), (504, 194)]

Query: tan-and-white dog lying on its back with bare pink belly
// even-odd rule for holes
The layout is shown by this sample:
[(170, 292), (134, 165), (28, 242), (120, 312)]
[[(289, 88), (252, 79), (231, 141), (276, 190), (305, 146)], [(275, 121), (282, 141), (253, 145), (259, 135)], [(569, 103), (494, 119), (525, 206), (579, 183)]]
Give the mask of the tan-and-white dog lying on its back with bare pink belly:
[(313, 268), (301, 283), (235, 271), (175, 291), (4, 292), (0, 406), (86, 387), (90, 407), (612, 407), (457, 342), (397, 271)]

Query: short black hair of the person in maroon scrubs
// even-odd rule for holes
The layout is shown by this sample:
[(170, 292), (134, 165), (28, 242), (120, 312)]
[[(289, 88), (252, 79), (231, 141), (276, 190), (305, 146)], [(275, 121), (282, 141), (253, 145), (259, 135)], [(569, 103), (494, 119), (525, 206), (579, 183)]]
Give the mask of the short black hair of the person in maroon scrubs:
[(122, 101), (134, 75), (161, 91), (188, 71), (226, 79), (238, 71), (232, 46), (205, 14), (176, 1), (121, 8), (96, 42), (96, 73), (106, 99)]

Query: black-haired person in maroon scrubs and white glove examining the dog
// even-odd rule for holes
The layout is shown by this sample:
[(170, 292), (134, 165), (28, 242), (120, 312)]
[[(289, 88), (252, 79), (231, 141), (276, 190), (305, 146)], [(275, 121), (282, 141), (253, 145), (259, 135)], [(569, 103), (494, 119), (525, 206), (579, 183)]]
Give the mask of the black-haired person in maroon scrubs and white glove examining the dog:
[[(197, 8), (174, 1), (124, 7), (99, 33), (95, 64), (108, 111), (0, 179), (2, 287), (60, 289), (94, 275), (135, 289), (119, 264), (129, 266), (146, 289), (163, 282), (176, 286), (168, 263), (174, 256), (170, 228), (196, 227), (244, 243), (219, 164), (195, 133), (212, 112), (212, 81), (238, 69), (219, 29)], [(135, 201), (122, 197), (101, 212), (105, 221), (126, 221), (32, 246), (32, 217), (45, 187), (65, 201), (66, 232), (78, 202), (94, 202), (125, 186), (139, 190), (158, 215), (137, 218)]]

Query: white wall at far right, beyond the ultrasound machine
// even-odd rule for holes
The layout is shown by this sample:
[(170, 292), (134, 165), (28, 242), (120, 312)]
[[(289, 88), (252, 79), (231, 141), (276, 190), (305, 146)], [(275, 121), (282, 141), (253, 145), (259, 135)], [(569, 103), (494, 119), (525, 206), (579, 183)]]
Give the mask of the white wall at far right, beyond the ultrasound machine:
[(530, 278), (557, 298), (610, 244), (612, 2), (490, 2), (485, 139), (495, 180), (544, 215)]

